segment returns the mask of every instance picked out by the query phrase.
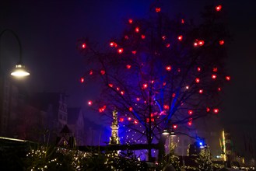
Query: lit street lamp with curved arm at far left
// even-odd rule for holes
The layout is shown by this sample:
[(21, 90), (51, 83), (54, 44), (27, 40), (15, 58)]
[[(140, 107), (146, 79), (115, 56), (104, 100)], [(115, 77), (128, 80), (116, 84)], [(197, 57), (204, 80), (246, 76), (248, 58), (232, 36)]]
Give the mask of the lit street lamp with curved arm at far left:
[(30, 72), (27, 72), (25, 70), (25, 65), (23, 65), (21, 43), (20, 43), (19, 37), (16, 35), (16, 33), (14, 33), (12, 30), (9, 30), (9, 29), (3, 30), (0, 33), (0, 40), (1, 40), (2, 35), (6, 32), (12, 33), (12, 35), (14, 37), (16, 37), (16, 40), (18, 41), (18, 44), (19, 44), (19, 61), (16, 65), (15, 69), (11, 73), (11, 75), (13, 75), (15, 77), (24, 77), (24, 76), (30, 75)]

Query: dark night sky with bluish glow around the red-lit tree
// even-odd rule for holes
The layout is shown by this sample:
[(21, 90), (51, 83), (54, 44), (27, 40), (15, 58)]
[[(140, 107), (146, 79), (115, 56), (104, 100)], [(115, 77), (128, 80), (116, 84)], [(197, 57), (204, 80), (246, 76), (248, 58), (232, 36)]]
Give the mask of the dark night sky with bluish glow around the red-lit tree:
[[(0, 5), (0, 31), (11, 29), (22, 43), (23, 62), (31, 75), (21, 81), (30, 92), (68, 93), (68, 106), (86, 105), (86, 89), (79, 82), (82, 55), (76, 49), (79, 38), (89, 37), (101, 46), (118, 37), (124, 20), (147, 17), (149, 0), (5, 0)], [(160, 1), (163, 11), (198, 18), (205, 0)], [(234, 139), (256, 130), (256, 2), (219, 1), (223, 5), (226, 26), (233, 36), (227, 61), (231, 82), (225, 87), (223, 110), (219, 117)], [(217, 4), (216, 4), (217, 5)], [(18, 60), (18, 44), (10, 33), (1, 37), (2, 68), (9, 72)], [(239, 142), (240, 146), (242, 141)], [(254, 139), (255, 144), (255, 139)]]

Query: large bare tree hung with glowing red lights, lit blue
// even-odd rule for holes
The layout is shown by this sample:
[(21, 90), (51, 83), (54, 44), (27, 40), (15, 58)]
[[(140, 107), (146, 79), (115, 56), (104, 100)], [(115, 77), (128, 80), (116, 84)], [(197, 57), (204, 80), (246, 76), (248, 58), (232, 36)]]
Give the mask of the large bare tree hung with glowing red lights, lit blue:
[(171, 125), (191, 127), (193, 120), (219, 113), (218, 96), (230, 81), (221, 8), (206, 8), (195, 25), (170, 19), (156, 6), (149, 19), (128, 19), (123, 35), (103, 51), (79, 40), (86, 60), (81, 82), (102, 81), (100, 98), (88, 104), (109, 117), (117, 109), (132, 135), (126, 142), (151, 145)]

